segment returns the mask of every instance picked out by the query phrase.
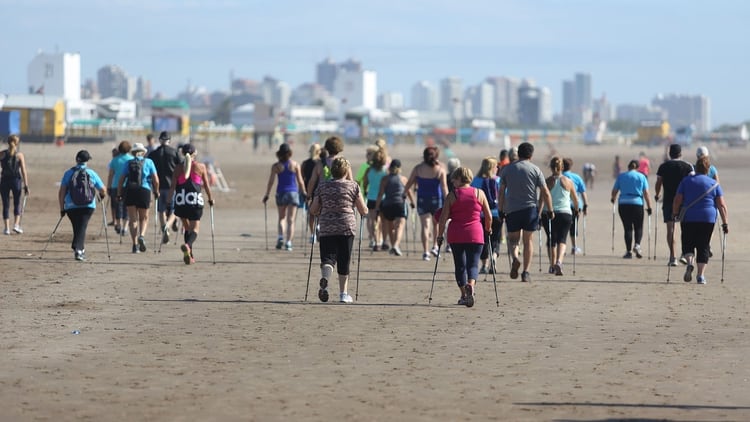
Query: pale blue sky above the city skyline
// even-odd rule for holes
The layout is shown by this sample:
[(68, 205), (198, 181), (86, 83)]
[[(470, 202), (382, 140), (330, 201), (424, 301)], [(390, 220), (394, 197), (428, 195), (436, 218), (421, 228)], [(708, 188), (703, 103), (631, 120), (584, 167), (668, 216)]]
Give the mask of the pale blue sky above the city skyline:
[(22, 93), (38, 49), (79, 52), (175, 95), (226, 89), (229, 72), (292, 87), (327, 56), (378, 73), (408, 97), (419, 80), (527, 77), (552, 90), (591, 73), (614, 104), (702, 94), (712, 124), (750, 120), (750, 1), (744, 0), (0, 0), (0, 92)]

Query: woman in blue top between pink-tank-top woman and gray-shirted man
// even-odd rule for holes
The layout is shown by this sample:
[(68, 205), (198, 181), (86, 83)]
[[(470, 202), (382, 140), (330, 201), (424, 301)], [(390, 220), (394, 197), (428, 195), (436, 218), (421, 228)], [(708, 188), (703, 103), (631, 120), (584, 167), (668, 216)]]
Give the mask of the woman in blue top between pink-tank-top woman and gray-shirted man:
[[(488, 272), (492, 274), (492, 271), (496, 268), (494, 263), (497, 260), (498, 251), (500, 250), (500, 227), (502, 226), (502, 222), (500, 221), (500, 212), (497, 209), (500, 177), (495, 175), (496, 168), (497, 160), (491, 156), (485, 157), (482, 160), (477, 175), (471, 181), (471, 187), (481, 189), (484, 193), (487, 203), (490, 206), (490, 214), (492, 214), (492, 230), (485, 231), (487, 237), (484, 239), (484, 247), (482, 248), (482, 253), (479, 255), (479, 259), (482, 261), (482, 268), (479, 269), (480, 274), (487, 274)], [(490, 256), (490, 248), (492, 249), (492, 256)], [(492, 264), (489, 267), (487, 266), (488, 258), (492, 259)]]

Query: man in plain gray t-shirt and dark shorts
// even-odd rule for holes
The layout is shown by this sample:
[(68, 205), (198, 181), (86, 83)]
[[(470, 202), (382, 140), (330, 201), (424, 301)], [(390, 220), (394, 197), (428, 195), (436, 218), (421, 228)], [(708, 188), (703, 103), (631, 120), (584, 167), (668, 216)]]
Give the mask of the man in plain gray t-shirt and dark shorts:
[[(530, 282), (529, 268), (534, 250), (534, 232), (539, 230), (537, 191), (548, 209), (552, 209), (552, 197), (544, 182), (542, 171), (531, 162), (534, 146), (524, 142), (518, 146), (518, 160), (503, 168), (500, 175), (498, 208), (505, 214), (508, 231), (508, 249), (513, 257), (510, 278), (518, 278), (521, 262), (518, 259), (518, 244), (523, 238), (523, 272), (521, 281)], [(554, 218), (553, 215), (550, 218)], [(523, 233), (522, 233), (523, 232)]]

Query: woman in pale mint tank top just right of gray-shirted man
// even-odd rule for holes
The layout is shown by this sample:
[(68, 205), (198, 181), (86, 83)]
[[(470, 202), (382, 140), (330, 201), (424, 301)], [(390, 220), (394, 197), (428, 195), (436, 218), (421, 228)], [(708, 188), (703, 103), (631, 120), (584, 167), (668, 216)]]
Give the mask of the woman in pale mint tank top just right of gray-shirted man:
[(542, 210), (542, 227), (547, 233), (549, 273), (554, 275), (563, 275), (562, 264), (568, 243), (567, 237), (569, 232), (575, 233), (571, 230), (571, 226), (579, 210), (575, 183), (565, 176), (564, 162), (565, 160), (561, 160), (560, 157), (552, 157), (549, 163), (552, 175), (545, 179), (547, 189), (552, 196), (552, 211), (554, 211), (555, 218), (550, 219), (550, 209), (543, 207), (542, 201), (539, 201), (539, 209)]

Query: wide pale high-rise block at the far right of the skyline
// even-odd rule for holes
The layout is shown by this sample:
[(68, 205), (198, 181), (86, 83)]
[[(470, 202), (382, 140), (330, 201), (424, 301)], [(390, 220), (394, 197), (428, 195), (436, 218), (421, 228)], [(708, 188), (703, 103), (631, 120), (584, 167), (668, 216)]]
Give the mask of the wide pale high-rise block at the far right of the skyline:
[(673, 128), (694, 126), (695, 131), (704, 133), (711, 130), (711, 109), (708, 97), (703, 95), (658, 94), (651, 105), (667, 112)]

